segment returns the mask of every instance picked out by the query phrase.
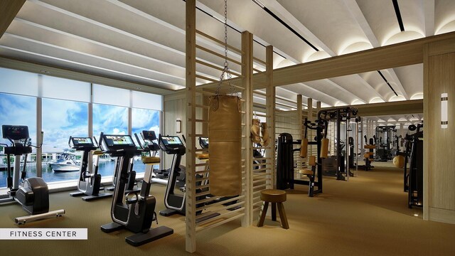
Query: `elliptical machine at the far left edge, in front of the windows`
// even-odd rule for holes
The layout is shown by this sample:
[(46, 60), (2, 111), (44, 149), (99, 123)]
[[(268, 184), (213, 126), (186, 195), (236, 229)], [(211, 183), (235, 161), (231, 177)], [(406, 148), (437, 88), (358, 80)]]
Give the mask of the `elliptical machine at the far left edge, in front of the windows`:
[[(41, 220), (50, 217), (60, 217), (65, 210), (53, 210), (49, 212), (49, 189), (48, 184), (43, 178), (31, 177), (26, 178), (27, 155), (32, 151), (32, 145), (29, 142), (28, 127), (22, 125), (2, 125), (1, 132), (4, 139), (11, 142), (11, 146), (4, 148), (7, 159), (7, 186), (9, 197), (0, 199), (0, 203), (17, 201), (22, 205), (26, 213), (31, 214), (24, 217), (14, 218), (16, 223), (25, 224), (33, 220)], [(43, 142), (43, 132), (41, 132), (41, 142)], [(41, 146), (43, 144), (41, 143)], [(40, 148), (41, 146), (33, 146)], [(11, 177), (11, 155), (14, 155), (14, 170)], [(21, 156), (25, 155), (23, 162), (23, 171), (19, 177), (21, 169)], [(22, 181), (22, 182), (21, 182)]]

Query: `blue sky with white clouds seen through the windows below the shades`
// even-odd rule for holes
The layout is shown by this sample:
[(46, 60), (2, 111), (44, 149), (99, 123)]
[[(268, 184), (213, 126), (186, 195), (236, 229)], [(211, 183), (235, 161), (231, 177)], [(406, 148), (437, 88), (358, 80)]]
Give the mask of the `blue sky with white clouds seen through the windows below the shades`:
[[(43, 152), (63, 151), (70, 136), (87, 136), (87, 116), (85, 102), (43, 99)], [(127, 134), (127, 118), (127, 107), (93, 104), (93, 134)], [(36, 144), (36, 98), (0, 93), (0, 124), (27, 125)], [(159, 134), (159, 111), (133, 109), (132, 125), (133, 133), (146, 129)]]

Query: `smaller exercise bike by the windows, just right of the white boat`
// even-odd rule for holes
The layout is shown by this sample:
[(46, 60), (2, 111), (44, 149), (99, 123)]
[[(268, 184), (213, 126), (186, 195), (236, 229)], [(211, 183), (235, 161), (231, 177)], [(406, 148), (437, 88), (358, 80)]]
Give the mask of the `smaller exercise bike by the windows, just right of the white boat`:
[(100, 193), (101, 174), (98, 174), (98, 161), (101, 151), (94, 151), (95, 163), (92, 172), (87, 171), (88, 157), (90, 151), (97, 149), (90, 137), (70, 137), (68, 146), (76, 151), (83, 151), (82, 161), (80, 161), (79, 180), (77, 181), (78, 192), (70, 193), (70, 196), (82, 196), (82, 201), (92, 201), (100, 198), (112, 196), (112, 193)]

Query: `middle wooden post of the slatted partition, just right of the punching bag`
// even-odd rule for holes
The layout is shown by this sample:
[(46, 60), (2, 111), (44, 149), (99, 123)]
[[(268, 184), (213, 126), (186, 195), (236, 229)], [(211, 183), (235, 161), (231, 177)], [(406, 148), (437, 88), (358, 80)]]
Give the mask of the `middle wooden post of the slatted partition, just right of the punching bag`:
[(253, 117), (253, 83), (252, 83), (252, 78), (253, 78), (253, 35), (252, 33), (245, 31), (242, 32), (242, 84), (245, 90), (242, 92), (242, 99), (245, 100), (243, 106), (243, 110), (245, 112), (244, 114), (244, 121), (243, 123), (245, 126), (243, 129), (245, 129), (245, 132), (243, 134), (246, 134), (245, 138), (242, 138), (242, 140), (245, 143), (242, 143), (242, 145), (245, 146), (245, 150), (243, 150), (244, 154), (242, 156), (242, 159), (245, 159), (244, 162), (244, 170), (245, 170), (245, 215), (242, 218), (242, 226), (247, 227), (252, 225), (253, 222), (253, 188), (252, 188), (252, 158), (253, 158), (253, 147), (252, 143), (250, 141), (250, 127), (252, 126), (252, 117)]

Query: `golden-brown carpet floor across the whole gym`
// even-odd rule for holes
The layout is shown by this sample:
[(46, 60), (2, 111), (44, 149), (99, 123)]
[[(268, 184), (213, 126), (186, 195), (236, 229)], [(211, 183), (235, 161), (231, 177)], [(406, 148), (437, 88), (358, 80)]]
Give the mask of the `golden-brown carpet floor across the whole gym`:
[[(422, 209), (407, 208), (401, 169), (376, 166), (349, 181), (325, 177), (323, 186), (314, 198), (306, 186), (288, 191), (289, 230), (269, 217), (262, 228), (242, 228), (235, 220), (197, 233), (193, 254), (185, 251), (184, 216), (159, 216), (159, 225), (173, 228), (173, 235), (132, 247), (124, 242), (131, 232), (100, 230), (111, 222), (111, 198), (84, 202), (52, 193), (50, 210), (65, 209), (62, 218), (18, 226), (14, 218), (25, 214), (9, 203), (0, 206), (0, 228), (87, 228), (88, 239), (0, 240), (1, 255), (455, 255), (455, 225), (422, 220)], [(164, 209), (164, 188), (152, 186), (156, 210)]]

